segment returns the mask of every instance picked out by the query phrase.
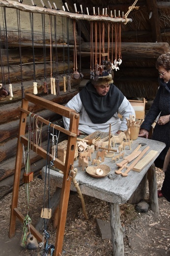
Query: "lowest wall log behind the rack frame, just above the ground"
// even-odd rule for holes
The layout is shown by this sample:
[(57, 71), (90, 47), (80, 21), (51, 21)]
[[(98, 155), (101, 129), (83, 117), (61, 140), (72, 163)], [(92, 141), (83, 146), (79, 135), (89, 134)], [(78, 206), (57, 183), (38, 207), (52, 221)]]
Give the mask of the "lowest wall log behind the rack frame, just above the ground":
[[(39, 171), (42, 169), (43, 166), (46, 165), (46, 160), (41, 159), (38, 160), (35, 164), (31, 164), (31, 171), (34, 173), (34, 176), (36, 176)], [(20, 176), (20, 185), (23, 184), (23, 173), (25, 169), (21, 170), (21, 176)], [(7, 177), (6, 179), (3, 179), (0, 181), (0, 198), (2, 198), (5, 194), (9, 193), (13, 189), (13, 183), (14, 183), (14, 175), (11, 175)]]

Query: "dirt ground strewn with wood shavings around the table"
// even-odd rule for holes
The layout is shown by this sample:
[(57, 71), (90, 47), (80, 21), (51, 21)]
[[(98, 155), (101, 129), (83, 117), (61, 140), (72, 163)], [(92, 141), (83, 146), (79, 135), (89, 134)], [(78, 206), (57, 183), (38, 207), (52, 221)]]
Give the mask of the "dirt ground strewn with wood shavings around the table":
[[(157, 185), (161, 188), (164, 173), (157, 169)], [(51, 189), (51, 194), (54, 193)], [(36, 256), (40, 249), (29, 251), (20, 245), (23, 224), (17, 221), (15, 236), (8, 238), (10, 204), (12, 193), (0, 200), (0, 255), (1, 256)], [(25, 188), (20, 187), (19, 208), (26, 213)], [(31, 183), (29, 216), (35, 225), (43, 207), (44, 182), (37, 177)], [(111, 239), (102, 239), (96, 226), (96, 218), (109, 222), (107, 202), (85, 196), (85, 207), (89, 217), (85, 220), (81, 201), (77, 193), (70, 194), (67, 222), (62, 248), (62, 256), (113, 256)], [(146, 201), (148, 199), (148, 191)], [(150, 209), (139, 213), (135, 205), (121, 205), (121, 222), (125, 229), (125, 256), (170, 256), (170, 203), (159, 198), (160, 214)], [(49, 243), (55, 245), (53, 218), (50, 220), (48, 233)]]

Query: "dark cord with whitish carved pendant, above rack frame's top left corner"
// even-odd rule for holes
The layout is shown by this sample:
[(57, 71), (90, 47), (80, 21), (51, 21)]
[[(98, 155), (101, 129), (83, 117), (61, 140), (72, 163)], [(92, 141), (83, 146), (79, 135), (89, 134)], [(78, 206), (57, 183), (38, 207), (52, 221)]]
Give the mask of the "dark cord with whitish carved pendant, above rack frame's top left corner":
[(30, 21), (30, 30), (31, 30), (31, 39), (32, 39), (32, 53), (33, 53), (33, 94), (37, 95), (37, 82), (35, 75), (35, 54), (34, 54), (34, 32), (33, 32), (33, 13), (29, 13), (29, 21)]

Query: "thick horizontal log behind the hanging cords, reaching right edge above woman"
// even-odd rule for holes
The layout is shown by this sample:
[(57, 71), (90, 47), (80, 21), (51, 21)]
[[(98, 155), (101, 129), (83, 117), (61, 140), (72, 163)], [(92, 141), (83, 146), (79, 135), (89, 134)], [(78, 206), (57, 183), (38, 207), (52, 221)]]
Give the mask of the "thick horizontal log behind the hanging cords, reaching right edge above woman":
[[(108, 43), (105, 43), (105, 53), (108, 51)], [(99, 49), (99, 43), (97, 48)], [(115, 43), (113, 43), (113, 52), (115, 51)], [(137, 59), (157, 59), (161, 54), (170, 52), (169, 43), (121, 43), (122, 58), (129, 57), (131, 60)], [(91, 46), (90, 43), (81, 44), (81, 55), (90, 56)], [(79, 54), (79, 53), (78, 53)], [(110, 47), (110, 54), (112, 54), (112, 47)]]

